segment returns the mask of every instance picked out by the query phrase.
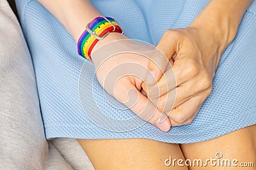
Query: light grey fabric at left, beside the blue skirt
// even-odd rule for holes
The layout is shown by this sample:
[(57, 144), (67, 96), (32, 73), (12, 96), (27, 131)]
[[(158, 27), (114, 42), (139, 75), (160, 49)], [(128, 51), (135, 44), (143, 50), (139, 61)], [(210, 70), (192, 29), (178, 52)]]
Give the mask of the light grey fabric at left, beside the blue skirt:
[(93, 169), (76, 139), (45, 139), (31, 57), (6, 0), (0, 0), (0, 169)]

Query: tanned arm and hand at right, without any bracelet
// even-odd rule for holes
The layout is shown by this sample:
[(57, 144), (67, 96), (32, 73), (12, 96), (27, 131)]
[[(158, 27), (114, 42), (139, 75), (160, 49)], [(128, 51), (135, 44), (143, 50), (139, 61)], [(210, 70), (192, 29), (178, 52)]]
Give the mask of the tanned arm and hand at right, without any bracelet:
[[(173, 66), (164, 72), (167, 76), (163, 76), (161, 69), (165, 70), (166, 64), (157, 62), (157, 56), (153, 56), (148, 63), (148, 70), (155, 75), (157, 83), (146, 78), (142, 87), (152, 103), (160, 103), (157, 105), (158, 110), (167, 113), (172, 126), (190, 124), (211, 94), (212, 78), (221, 54), (236, 36), (244, 11), (251, 2), (211, 1), (191, 25), (185, 29), (172, 29), (164, 33), (157, 48)], [(168, 76), (172, 71), (176, 84), (172, 83), (173, 77)], [(157, 99), (156, 96), (148, 94), (156, 94), (156, 90), (160, 91)], [(174, 106), (172, 101), (175, 101)]]

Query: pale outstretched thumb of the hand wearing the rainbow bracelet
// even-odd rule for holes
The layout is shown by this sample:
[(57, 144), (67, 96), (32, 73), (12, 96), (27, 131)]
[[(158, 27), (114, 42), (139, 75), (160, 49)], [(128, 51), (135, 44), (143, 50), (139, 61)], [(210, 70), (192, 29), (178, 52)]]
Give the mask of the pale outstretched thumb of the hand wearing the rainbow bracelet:
[[(143, 96), (143, 94), (141, 94), (140, 91), (134, 87), (127, 90), (129, 101), (131, 101), (125, 103), (128, 108), (130, 108), (143, 120), (150, 122), (151, 124), (161, 129), (161, 131), (167, 132), (170, 130), (170, 120), (166, 118), (165, 113), (161, 113), (159, 110), (157, 110), (156, 106), (154, 106), (154, 104), (149, 101), (147, 97)], [(134, 103), (134, 101), (136, 102)], [(163, 117), (164, 121), (159, 122), (160, 118), (163, 119)]]

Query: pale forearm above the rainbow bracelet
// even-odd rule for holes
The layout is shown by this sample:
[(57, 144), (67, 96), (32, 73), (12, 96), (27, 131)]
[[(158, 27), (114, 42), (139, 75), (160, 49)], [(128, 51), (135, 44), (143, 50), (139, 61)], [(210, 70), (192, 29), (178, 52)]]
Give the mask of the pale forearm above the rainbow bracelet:
[(93, 18), (100, 16), (89, 0), (38, 0), (61, 24), (77, 42), (86, 25)]

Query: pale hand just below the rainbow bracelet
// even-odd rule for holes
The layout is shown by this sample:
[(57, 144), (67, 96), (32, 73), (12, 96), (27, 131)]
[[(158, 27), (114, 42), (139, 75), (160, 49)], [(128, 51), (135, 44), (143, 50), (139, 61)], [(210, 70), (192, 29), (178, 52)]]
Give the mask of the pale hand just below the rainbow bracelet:
[[(95, 64), (100, 85), (143, 120), (150, 122), (164, 132), (169, 131), (170, 120), (166, 119), (160, 123), (159, 119), (162, 113), (140, 92), (141, 83), (145, 80), (147, 73), (148, 59), (135, 53), (109, 55), (109, 52), (115, 49), (124, 49), (129, 46), (120, 43), (120, 41), (115, 41), (115, 45), (108, 43), (117, 39), (125, 39), (122, 34), (111, 34), (104, 41), (100, 41), (99, 45), (97, 44), (101, 46), (99, 50), (96, 50), (96, 47), (95, 52), (92, 52), (92, 60)], [(113, 46), (109, 46), (111, 44)], [(134, 43), (132, 43), (131, 48), (134, 48), (134, 46)], [(139, 46), (140, 49), (141, 47), (143, 48), (143, 45)], [(104, 56), (106, 53), (111, 57)], [(113, 54), (116, 53), (118, 52), (113, 52)]]

